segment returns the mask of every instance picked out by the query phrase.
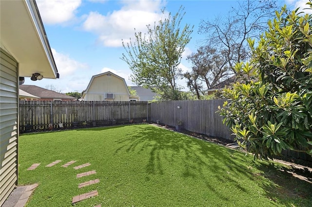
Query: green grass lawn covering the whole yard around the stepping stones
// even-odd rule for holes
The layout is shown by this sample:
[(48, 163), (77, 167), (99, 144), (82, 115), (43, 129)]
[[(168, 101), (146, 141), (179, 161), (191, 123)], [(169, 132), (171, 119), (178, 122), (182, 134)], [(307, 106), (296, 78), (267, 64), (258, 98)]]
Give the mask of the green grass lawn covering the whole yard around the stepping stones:
[(92, 190), (98, 196), (75, 206), (312, 206), (312, 184), (285, 166), (148, 124), (21, 135), (19, 149), (19, 185), (39, 184), (27, 207), (72, 206), (73, 196)]

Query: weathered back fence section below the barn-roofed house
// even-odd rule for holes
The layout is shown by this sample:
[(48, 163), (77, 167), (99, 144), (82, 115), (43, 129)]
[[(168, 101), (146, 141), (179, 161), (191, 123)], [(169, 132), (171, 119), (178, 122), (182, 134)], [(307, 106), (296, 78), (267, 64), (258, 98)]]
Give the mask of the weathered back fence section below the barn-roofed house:
[(149, 120), (148, 102), (20, 101), (20, 131)]

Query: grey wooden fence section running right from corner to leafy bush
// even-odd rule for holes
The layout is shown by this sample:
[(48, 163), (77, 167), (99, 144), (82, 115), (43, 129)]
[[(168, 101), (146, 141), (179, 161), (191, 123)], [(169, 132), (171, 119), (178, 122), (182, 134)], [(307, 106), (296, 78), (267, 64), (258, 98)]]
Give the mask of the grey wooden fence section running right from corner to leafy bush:
[(183, 128), (192, 132), (234, 140), (231, 130), (222, 123), (218, 106), (225, 100), (170, 101), (151, 103), (151, 120), (175, 126), (183, 121)]

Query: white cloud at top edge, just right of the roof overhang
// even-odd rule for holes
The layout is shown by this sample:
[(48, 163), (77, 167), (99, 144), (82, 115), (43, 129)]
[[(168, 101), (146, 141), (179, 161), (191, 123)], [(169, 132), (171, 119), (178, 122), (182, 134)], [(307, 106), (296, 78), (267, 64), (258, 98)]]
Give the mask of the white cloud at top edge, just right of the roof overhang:
[(45, 24), (60, 24), (75, 18), (81, 0), (38, 0), (37, 5)]

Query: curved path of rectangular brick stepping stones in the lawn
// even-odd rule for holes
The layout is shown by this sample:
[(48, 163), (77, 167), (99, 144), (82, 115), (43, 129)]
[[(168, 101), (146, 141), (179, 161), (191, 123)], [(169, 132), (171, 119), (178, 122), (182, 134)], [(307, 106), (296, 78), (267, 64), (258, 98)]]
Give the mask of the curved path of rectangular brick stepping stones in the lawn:
[[(61, 162), (61, 160), (56, 160), (56, 161), (46, 165), (45, 167), (52, 167), (52, 166), (58, 164), (59, 162)], [(75, 160), (72, 160), (72, 161), (67, 162), (66, 164), (62, 165), (61, 167), (67, 168), (68, 166), (70, 166), (71, 164), (73, 164), (75, 162), (76, 162)], [(27, 170), (28, 171), (35, 170), (40, 164), (41, 163), (34, 163)], [(84, 167), (87, 167), (87, 166), (90, 166), (90, 165), (91, 164), (88, 162), (88, 163), (85, 163), (85, 164), (82, 164), (82, 165), (78, 165), (78, 166), (74, 167), (74, 169), (78, 170), (78, 169), (81, 169), (81, 168), (84, 168)], [(88, 176), (88, 175), (96, 174), (96, 173), (97, 172), (94, 171), (94, 170), (93, 171), (89, 171), (89, 172), (85, 172), (85, 173), (79, 173), (79, 174), (76, 175), (76, 178), (80, 178), (80, 177), (84, 177), (84, 176)], [(87, 181), (87, 182), (84, 182), (84, 183), (80, 183), (78, 185), (78, 188), (80, 189), (82, 187), (90, 186), (90, 185), (93, 185), (93, 184), (96, 184), (96, 183), (99, 183), (99, 179), (90, 180), (90, 181)], [(77, 203), (79, 201), (82, 201), (84, 199), (93, 197), (93, 196), (97, 196), (97, 195), (98, 195), (98, 190), (93, 190), (91, 192), (86, 192), (86, 193), (74, 196), (73, 199), (72, 199), (72, 204)], [(99, 205), (97, 205), (95, 207), (101, 207), (101, 205), (99, 204)]]

